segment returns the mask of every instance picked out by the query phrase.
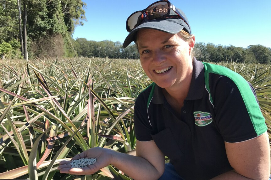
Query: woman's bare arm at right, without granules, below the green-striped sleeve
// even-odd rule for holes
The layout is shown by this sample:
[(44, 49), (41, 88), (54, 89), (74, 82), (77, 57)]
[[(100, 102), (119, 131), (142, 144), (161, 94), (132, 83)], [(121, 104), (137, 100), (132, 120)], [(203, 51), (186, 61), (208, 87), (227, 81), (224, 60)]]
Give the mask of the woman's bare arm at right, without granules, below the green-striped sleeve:
[(225, 147), (227, 157), (234, 171), (221, 174), (213, 178), (213, 180), (269, 179), (270, 147), (267, 132), (243, 142), (225, 142)]

